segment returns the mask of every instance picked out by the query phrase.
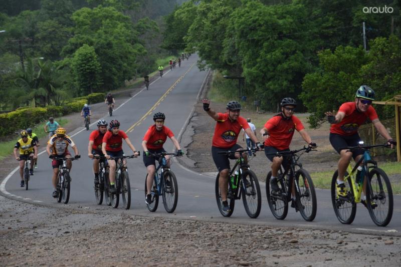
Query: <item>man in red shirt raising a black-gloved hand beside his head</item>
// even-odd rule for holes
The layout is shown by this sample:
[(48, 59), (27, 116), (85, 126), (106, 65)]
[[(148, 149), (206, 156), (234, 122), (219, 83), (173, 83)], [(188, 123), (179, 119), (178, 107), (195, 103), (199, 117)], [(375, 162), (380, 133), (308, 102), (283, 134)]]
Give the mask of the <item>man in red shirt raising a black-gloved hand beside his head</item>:
[[(239, 158), (239, 153), (235, 156), (227, 156), (219, 154), (220, 151), (228, 150), (241, 150), (242, 147), (237, 144), (238, 135), (242, 128), (251, 139), (255, 142), (258, 149), (260, 143), (252, 132), (247, 120), (240, 116), (241, 104), (237, 101), (230, 101), (227, 103), (227, 113), (217, 113), (210, 108), (210, 101), (208, 99), (202, 100), (204, 110), (216, 121), (215, 133), (212, 140), (212, 156), (216, 164), (217, 169), (220, 172), (219, 187), (222, 194), (223, 210), (225, 212), (230, 211), (230, 207), (227, 202), (227, 187), (228, 178), (230, 174), (230, 161), (231, 159)], [(245, 160), (247, 161), (247, 153), (244, 152)]]

